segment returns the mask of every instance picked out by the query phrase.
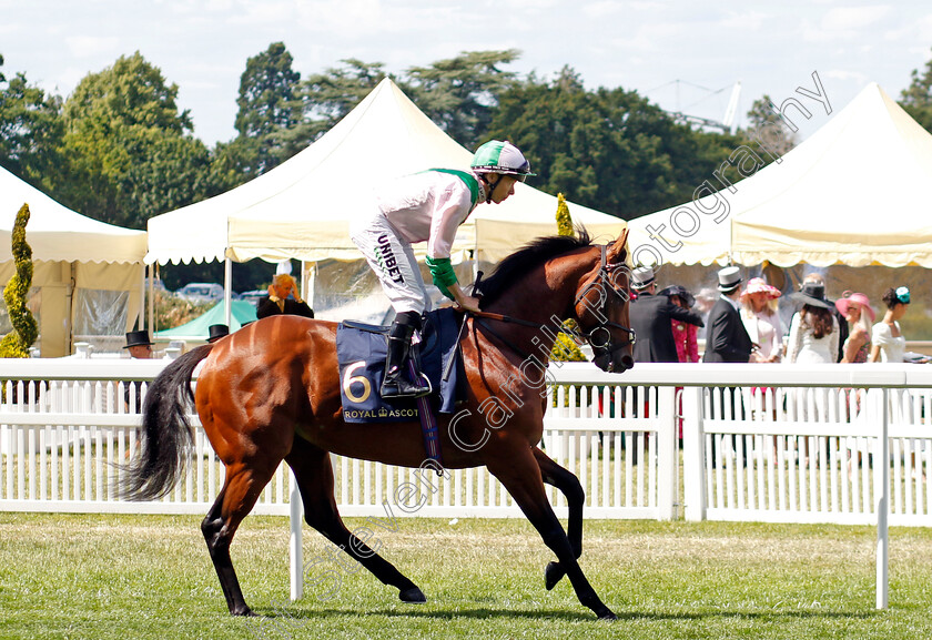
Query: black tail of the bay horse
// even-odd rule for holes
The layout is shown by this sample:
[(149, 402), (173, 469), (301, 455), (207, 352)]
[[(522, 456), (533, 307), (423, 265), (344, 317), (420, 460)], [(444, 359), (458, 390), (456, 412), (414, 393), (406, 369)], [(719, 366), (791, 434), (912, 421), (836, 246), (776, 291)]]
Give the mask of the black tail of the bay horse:
[(178, 484), (188, 464), (194, 437), (186, 408), (194, 403), (191, 377), (213, 345), (192, 349), (160, 373), (142, 407), (140, 449), (129, 465), (116, 492), (125, 500), (155, 500)]

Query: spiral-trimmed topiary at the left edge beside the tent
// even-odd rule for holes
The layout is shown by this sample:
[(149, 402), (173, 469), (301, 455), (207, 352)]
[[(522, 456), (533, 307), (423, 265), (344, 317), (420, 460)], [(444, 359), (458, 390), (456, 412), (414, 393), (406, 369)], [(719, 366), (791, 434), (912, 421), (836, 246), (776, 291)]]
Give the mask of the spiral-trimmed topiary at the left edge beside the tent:
[(13, 331), (0, 341), (0, 358), (29, 357), (29, 347), (39, 336), (36, 318), (26, 306), (29, 288), (32, 286), (32, 247), (26, 242), (28, 223), (29, 205), (23, 204), (13, 223), (12, 253), (16, 273), (3, 289), (3, 302), (7, 303)]

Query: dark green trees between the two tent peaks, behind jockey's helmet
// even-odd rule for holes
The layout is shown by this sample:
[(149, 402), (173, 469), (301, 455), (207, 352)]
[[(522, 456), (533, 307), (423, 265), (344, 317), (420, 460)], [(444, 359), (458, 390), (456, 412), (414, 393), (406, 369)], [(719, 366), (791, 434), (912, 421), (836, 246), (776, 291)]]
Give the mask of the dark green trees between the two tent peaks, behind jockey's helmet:
[(525, 152), (535, 187), (626, 220), (691, 200), (735, 142), (676, 124), (634, 91), (586, 91), (569, 68), (499, 95), (488, 136)]

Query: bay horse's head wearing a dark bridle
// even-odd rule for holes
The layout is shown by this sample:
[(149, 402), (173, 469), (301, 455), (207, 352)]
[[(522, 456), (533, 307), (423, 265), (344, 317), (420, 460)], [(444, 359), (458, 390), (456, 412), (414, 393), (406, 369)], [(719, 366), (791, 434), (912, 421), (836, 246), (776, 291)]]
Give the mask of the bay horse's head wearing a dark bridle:
[(580, 334), (592, 347), (592, 362), (604, 372), (622, 373), (635, 366), (631, 347), (635, 332), (629, 327), (629, 270), (625, 264), (628, 231), (600, 245), (598, 268), (576, 292), (576, 317)]

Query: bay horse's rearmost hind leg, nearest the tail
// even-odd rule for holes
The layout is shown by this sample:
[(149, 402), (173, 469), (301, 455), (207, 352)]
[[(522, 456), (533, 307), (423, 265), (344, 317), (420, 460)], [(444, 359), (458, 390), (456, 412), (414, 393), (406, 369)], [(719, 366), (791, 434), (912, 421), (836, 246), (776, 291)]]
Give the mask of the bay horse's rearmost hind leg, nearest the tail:
[(201, 522), (201, 531), (207, 542), (216, 577), (220, 579), (226, 606), (233, 616), (251, 616), (252, 610), (243, 598), (240, 580), (233, 569), (230, 544), (233, 541), (240, 522), (255, 506), (262, 489), (272, 479), (280, 461), (274, 465), (269, 463), (259, 468), (244, 464), (227, 465), (223, 489)]

